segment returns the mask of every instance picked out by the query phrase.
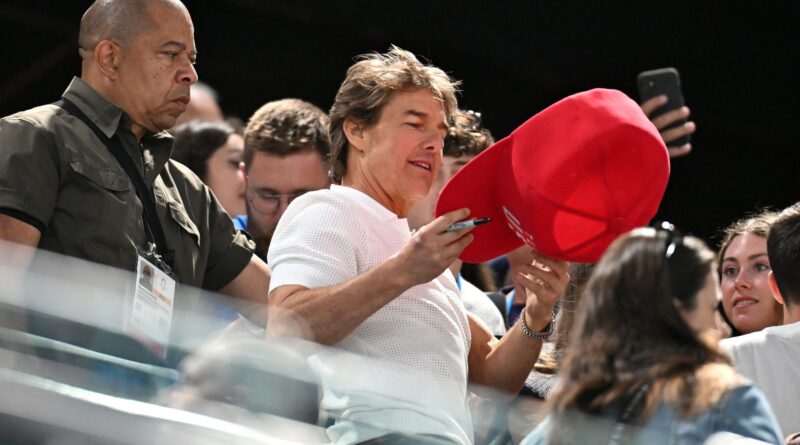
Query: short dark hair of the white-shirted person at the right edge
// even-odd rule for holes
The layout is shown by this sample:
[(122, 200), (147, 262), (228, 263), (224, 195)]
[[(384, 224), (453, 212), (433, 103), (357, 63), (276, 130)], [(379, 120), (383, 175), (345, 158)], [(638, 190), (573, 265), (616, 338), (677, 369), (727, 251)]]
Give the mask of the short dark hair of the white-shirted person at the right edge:
[(767, 256), (784, 302), (800, 304), (800, 202), (782, 211), (772, 223)]

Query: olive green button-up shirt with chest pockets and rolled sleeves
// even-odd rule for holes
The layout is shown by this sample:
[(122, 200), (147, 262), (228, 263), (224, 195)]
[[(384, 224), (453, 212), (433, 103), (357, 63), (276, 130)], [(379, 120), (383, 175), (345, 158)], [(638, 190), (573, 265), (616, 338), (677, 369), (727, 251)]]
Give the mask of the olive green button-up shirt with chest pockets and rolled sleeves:
[[(106, 136), (119, 135), (154, 193), (178, 281), (217, 290), (233, 280), (252, 242), (203, 182), (169, 159), (172, 137), (149, 133), (140, 144), (130, 117), (79, 78), (63, 97)], [(135, 270), (147, 243), (142, 211), (125, 171), (77, 117), (51, 104), (0, 120), (0, 213), (37, 227), (40, 248)]]

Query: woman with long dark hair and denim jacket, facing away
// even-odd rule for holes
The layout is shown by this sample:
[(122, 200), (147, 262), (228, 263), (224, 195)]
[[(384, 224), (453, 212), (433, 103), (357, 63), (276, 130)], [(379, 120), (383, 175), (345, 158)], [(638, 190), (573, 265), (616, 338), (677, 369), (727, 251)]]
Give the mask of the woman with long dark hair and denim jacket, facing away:
[(669, 224), (615, 241), (597, 264), (550, 415), (524, 443), (780, 443), (774, 414), (717, 348), (714, 253)]

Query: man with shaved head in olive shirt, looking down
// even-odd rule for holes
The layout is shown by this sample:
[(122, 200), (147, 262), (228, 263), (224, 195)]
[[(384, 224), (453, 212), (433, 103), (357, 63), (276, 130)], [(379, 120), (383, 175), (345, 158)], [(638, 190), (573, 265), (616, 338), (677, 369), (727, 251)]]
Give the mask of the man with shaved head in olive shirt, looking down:
[(179, 283), (266, 302), (269, 270), (252, 243), (169, 159), (163, 130), (197, 82), (184, 5), (98, 0), (81, 19), (79, 54), (81, 77), (61, 102), (0, 120), (0, 239), (127, 270), (149, 252)]

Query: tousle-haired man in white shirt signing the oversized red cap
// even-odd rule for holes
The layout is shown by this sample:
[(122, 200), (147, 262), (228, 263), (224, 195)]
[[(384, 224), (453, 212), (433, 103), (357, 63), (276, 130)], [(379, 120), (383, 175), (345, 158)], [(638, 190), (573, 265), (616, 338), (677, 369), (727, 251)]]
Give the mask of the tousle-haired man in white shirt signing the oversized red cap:
[(552, 331), (566, 263), (536, 256), (524, 325), (498, 342), (448, 270), (472, 235), (446, 229), (469, 209), (408, 229), (440, 168), (454, 93), (442, 70), (399, 48), (360, 58), (330, 111), (340, 185), (294, 200), (273, 236), (268, 331), (336, 346), (311, 364), (337, 443), (386, 431), (472, 443), (467, 381), (516, 393)]

